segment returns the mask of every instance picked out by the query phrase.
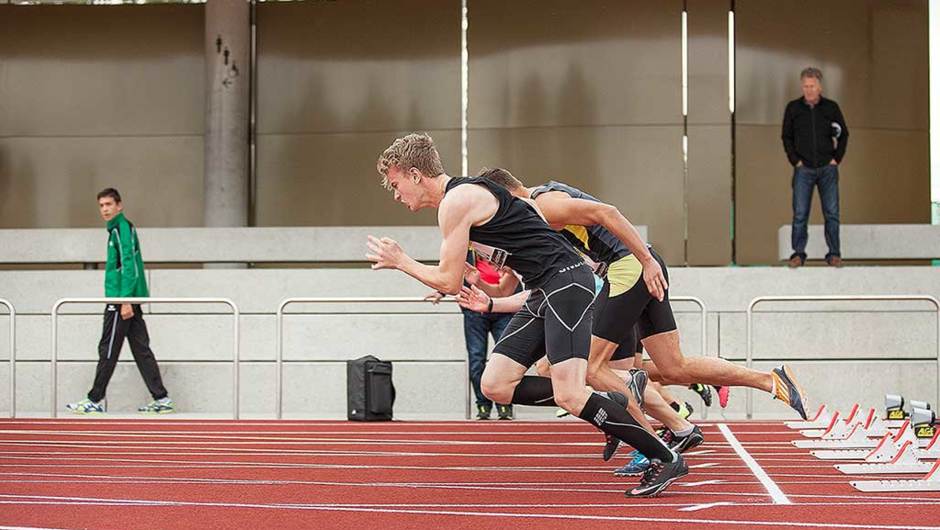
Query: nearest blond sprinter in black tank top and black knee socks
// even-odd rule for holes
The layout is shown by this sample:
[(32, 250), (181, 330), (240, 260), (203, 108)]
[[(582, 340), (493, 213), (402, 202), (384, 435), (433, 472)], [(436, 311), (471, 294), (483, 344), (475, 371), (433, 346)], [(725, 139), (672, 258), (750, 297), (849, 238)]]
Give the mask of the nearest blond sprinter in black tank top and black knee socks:
[[(688, 473), (680, 455), (627, 413), (625, 396), (585, 388), (597, 294), (594, 275), (530, 203), (479, 179), (452, 179), (427, 135), (395, 140), (379, 157), (377, 169), (396, 201), (412, 211), (438, 209), (443, 241), (439, 264), (424, 265), (397, 242), (370, 236), (366, 257), (373, 269), (398, 269), (432, 289), (457, 294), (472, 243), (481, 254), (488, 251), (494, 263), (512, 267), (531, 289), (525, 309), (513, 316), (483, 372), (487, 397), (520, 405), (557, 403), (648, 456), (654, 463), (649, 480), (644, 476), (644, 485), (627, 495), (656, 495)], [(546, 354), (551, 379), (526, 376)]]

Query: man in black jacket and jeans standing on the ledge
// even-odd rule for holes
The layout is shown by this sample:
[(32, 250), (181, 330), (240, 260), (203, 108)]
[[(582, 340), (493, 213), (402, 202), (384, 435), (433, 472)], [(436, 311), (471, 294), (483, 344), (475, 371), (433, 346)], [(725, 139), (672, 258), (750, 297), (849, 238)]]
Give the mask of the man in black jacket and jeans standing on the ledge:
[(787, 104), (783, 114), (783, 148), (793, 166), (793, 255), (790, 267), (806, 261), (807, 224), (813, 186), (819, 187), (825, 217), (826, 263), (842, 266), (839, 250), (839, 164), (845, 156), (849, 128), (839, 105), (822, 97), (822, 72), (800, 72), (803, 97)]

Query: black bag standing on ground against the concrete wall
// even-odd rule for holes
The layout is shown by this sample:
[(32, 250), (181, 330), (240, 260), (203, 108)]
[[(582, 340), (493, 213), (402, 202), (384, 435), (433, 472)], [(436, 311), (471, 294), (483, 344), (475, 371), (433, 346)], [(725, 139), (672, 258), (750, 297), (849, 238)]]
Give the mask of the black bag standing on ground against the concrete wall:
[(366, 355), (346, 361), (346, 412), (354, 421), (389, 421), (395, 404), (392, 363)]

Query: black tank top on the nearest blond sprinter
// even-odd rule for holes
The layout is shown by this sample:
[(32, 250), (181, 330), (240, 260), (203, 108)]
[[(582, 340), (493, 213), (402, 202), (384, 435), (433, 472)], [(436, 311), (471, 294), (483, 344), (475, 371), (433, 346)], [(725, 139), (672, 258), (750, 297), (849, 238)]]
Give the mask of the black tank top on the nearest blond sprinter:
[(499, 201), (492, 219), (470, 227), (470, 246), (496, 267), (511, 267), (522, 276), (527, 289), (541, 287), (562, 269), (584, 263), (571, 244), (552, 230), (532, 205), (486, 178), (451, 178), (444, 194), (463, 184), (483, 186)]

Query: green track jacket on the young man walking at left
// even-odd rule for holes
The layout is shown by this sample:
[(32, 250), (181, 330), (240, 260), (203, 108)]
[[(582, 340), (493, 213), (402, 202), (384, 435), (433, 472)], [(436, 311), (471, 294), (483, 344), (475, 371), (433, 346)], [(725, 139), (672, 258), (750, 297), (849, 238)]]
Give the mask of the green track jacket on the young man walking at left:
[(104, 295), (147, 297), (147, 277), (140, 254), (137, 229), (121, 212), (108, 221), (108, 261), (104, 268)]

